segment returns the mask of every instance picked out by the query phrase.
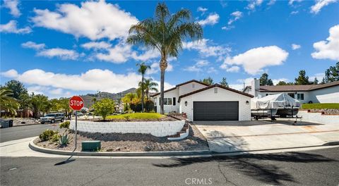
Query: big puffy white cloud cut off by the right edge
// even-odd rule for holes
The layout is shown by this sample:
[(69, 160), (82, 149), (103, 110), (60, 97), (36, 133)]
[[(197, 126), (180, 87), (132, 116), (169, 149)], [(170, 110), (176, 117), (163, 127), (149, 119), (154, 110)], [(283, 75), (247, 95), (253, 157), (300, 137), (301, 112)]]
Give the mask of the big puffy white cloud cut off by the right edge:
[(326, 41), (315, 42), (313, 44), (316, 51), (311, 54), (312, 58), (328, 58), (339, 61), (339, 25), (331, 27), (329, 32), (330, 36)]

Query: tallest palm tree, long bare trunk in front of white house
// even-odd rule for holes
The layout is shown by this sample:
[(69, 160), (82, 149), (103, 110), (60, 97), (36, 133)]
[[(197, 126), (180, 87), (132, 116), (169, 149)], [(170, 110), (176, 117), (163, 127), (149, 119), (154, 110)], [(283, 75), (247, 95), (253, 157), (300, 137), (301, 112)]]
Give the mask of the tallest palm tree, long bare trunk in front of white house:
[(170, 13), (166, 4), (157, 4), (155, 18), (142, 20), (129, 29), (129, 44), (143, 44), (148, 49), (160, 52), (160, 113), (164, 113), (164, 82), (167, 58), (177, 57), (186, 38), (203, 37), (203, 28), (191, 21), (191, 12), (182, 9)]

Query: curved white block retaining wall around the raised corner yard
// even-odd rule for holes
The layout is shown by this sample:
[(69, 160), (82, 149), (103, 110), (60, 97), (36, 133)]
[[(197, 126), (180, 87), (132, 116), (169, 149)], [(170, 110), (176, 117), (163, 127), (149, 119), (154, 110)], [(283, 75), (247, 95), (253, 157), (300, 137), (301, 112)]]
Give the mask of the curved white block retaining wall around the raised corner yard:
[[(185, 120), (176, 121), (145, 121), (145, 122), (93, 122), (78, 120), (78, 130), (81, 132), (100, 133), (142, 133), (156, 137), (175, 135), (180, 132)], [(70, 129), (75, 129), (76, 121), (71, 120)]]

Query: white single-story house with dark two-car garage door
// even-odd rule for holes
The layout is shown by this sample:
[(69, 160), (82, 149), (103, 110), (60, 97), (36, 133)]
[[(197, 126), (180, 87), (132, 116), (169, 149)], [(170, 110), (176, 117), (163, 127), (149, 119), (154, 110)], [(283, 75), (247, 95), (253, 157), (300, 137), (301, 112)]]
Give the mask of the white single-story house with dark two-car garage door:
[[(160, 93), (151, 95), (160, 113)], [(189, 120), (251, 120), (251, 94), (190, 80), (164, 92), (164, 112), (186, 113)]]

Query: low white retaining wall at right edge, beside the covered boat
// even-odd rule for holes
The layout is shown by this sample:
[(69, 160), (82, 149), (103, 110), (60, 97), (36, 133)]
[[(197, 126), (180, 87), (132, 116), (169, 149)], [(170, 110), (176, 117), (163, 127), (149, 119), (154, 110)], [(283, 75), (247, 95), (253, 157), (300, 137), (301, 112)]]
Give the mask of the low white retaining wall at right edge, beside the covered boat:
[(302, 116), (302, 120), (312, 123), (339, 125), (339, 115), (324, 115), (322, 113), (309, 113), (307, 111), (299, 111), (297, 116)]

